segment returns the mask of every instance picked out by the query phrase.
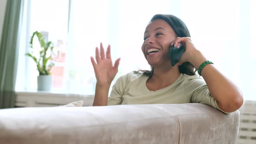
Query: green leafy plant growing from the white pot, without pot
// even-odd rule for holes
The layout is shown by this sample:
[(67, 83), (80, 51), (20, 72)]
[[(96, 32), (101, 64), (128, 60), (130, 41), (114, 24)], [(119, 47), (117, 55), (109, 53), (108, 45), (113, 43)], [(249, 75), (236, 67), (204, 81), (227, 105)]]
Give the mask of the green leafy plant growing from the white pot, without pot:
[[(37, 36), (39, 44), (41, 46), (39, 50), (39, 57), (36, 57), (35, 53), (33, 52), (33, 38)], [(38, 31), (35, 31), (30, 40), (30, 48), (32, 49), (31, 52), (26, 53), (26, 56), (31, 57), (36, 62), (36, 67), (39, 72), (39, 75), (50, 75), (50, 70), (52, 69), (54, 63), (53, 61), (53, 43), (51, 41), (45, 42), (43, 35)], [(38, 55), (38, 54), (37, 54)]]

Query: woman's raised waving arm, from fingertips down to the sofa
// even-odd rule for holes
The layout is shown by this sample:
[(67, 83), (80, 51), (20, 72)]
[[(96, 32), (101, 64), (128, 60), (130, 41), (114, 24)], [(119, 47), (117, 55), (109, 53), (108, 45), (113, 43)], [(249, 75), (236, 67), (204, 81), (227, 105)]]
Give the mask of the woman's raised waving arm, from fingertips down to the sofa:
[(91, 62), (97, 79), (96, 88), (95, 88), (95, 97), (92, 106), (105, 106), (108, 105), (108, 91), (111, 85), (111, 82), (115, 78), (115, 75), (118, 72), (118, 65), (120, 58), (115, 61), (115, 65), (112, 64), (111, 54), (110, 54), (110, 45), (108, 49), (104, 52), (102, 43), (100, 44), (100, 54), (98, 52), (98, 47), (96, 47), (95, 60), (91, 57)]

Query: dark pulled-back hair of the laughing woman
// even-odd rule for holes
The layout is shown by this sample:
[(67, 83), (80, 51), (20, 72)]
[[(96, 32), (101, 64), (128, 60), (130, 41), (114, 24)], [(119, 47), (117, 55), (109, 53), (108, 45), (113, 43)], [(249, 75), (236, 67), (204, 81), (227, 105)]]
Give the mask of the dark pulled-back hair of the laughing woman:
[[(178, 17), (169, 14), (156, 14), (151, 18), (150, 22), (159, 19), (166, 21), (171, 26), (171, 28), (174, 30), (175, 34), (178, 37), (190, 37), (190, 33), (187, 29), (187, 26)], [(179, 65), (179, 71), (187, 75), (196, 75), (197, 69), (190, 62), (184, 62), (182, 65)], [(151, 67), (151, 71), (139, 70), (139, 72), (143, 72), (144, 75), (152, 77), (154, 68)]]

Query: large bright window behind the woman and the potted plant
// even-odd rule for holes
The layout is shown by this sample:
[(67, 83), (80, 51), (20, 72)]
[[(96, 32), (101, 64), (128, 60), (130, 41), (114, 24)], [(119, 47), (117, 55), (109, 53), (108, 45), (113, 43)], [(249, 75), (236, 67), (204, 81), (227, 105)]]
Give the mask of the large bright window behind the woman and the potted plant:
[[(100, 42), (112, 46), (113, 62), (121, 57), (114, 84), (132, 70), (150, 69), (141, 52), (144, 29), (154, 14), (173, 14), (186, 23), (197, 49), (240, 86), (245, 99), (253, 100), (255, 6), (253, 0), (33, 0), (30, 36), (45, 31), (60, 51), (52, 69), (54, 91), (91, 95), (96, 79), (90, 56)], [(28, 69), (23, 86), (36, 89), (36, 66), (31, 59), (24, 64)]]

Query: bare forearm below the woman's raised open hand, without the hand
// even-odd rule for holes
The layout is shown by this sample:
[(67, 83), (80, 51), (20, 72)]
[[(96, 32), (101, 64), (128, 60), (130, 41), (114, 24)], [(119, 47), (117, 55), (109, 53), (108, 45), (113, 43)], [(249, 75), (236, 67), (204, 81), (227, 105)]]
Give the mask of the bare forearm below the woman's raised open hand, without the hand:
[(108, 105), (108, 91), (110, 85), (99, 85), (96, 84), (95, 97), (92, 106), (105, 106)]

